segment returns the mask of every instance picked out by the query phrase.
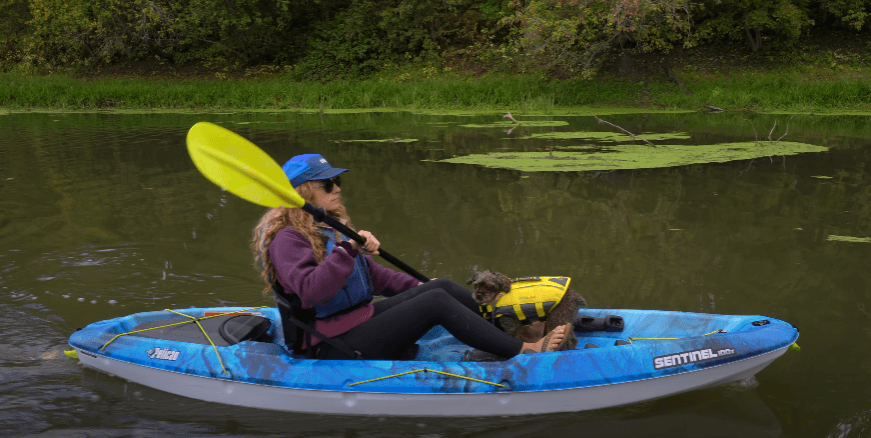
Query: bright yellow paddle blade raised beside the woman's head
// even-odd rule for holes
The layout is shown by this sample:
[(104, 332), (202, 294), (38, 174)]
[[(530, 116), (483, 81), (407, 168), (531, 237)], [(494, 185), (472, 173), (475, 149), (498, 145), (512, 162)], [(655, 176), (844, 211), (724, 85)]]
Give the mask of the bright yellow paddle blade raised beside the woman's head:
[(208, 122), (188, 131), (188, 153), (197, 169), (228, 192), (264, 207), (302, 207), (281, 166), (239, 134)]

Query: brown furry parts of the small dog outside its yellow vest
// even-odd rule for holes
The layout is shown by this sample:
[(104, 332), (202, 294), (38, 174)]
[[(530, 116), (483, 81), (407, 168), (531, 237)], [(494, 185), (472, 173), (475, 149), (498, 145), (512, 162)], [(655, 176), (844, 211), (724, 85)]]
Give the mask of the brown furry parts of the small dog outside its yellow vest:
[[(466, 284), (474, 286), (475, 292), (472, 296), (475, 302), (481, 306), (492, 304), (495, 307), (499, 294), (511, 291), (511, 279), (504, 274), (489, 270), (476, 272), (472, 278), (466, 281)], [(587, 301), (570, 288), (566, 291), (559, 304), (550, 309), (544, 323), (535, 322), (524, 326), (515, 316), (504, 314), (495, 319), (496, 324), (505, 333), (521, 339), (523, 342), (537, 342), (546, 333), (550, 333), (551, 330), (565, 323), (571, 323), (572, 327), (574, 327), (575, 320), (578, 317), (578, 310), (581, 307), (587, 307)], [(567, 335), (568, 340), (560, 350), (574, 350), (578, 345), (578, 338), (575, 336), (574, 331), (569, 330)]]

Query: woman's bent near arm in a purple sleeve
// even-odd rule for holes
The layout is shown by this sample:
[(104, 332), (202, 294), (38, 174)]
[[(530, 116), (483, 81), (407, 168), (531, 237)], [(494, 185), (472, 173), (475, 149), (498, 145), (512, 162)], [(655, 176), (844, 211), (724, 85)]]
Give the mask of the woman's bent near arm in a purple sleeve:
[(308, 309), (328, 302), (351, 278), (354, 257), (343, 246), (336, 245), (318, 264), (308, 239), (287, 227), (269, 244), (269, 258), (281, 285), (297, 294), (302, 307)]

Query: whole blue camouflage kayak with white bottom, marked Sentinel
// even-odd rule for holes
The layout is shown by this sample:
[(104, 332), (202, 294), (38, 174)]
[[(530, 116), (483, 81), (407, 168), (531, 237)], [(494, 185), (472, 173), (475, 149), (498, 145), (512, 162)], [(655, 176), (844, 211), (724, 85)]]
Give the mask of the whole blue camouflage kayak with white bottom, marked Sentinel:
[[(404, 416), (526, 415), (626, 405), (742, 380), (798, 339), (759, 315), (581, 309), (578, 349), (464, 361), (441, 327), (413, 360), (316, 360), (284, 345), (276, 308), (137, 313), (73, 333), (81, 363), (196, 399), (282, 411)], [(593, 329), (595, 330), (595, 329)]]

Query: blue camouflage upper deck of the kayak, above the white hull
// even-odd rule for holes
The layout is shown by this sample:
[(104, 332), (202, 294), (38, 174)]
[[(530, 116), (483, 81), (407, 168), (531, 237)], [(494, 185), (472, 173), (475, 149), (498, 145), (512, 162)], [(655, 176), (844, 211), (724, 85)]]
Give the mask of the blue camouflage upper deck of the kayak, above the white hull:
[[(242, 308), (184, 309), (193, 317), (205, 312), (234, 312)], [(192, 376), (265, 384), (287, 388), (360, 392), (490, 393), (542, 391), (614, 384), (663, 377), (723, 365), (788, 347), (798, 331), (790, 324), (762, 316), (700, 313), (582, 309), (592, 317), (623, 317), (622, 332), (577, 333), (579, 346), (600, 348), (558, 353), (518, 355), (504, 362), (463, 362), (468, 350), (441, 327), (420, 341), (413, 361), (313, 360), (288, 353), (274, 308), (256, 312), (273, 321), (271, 342), (245, 341), (225, 347), (164, 341), (137, 334), (116, 336), (148, 321), (166, 319), (168, 312), (146, 312), (94, 323), (70, 338), (70, 344), (94, 356), (106, 356)], [(764, 325), (753, 325), (768, 321)], [(112, 340), (115, 338), (114, 340)], [(643, 339), (642, 339), (643, 338)], [(615, 346), (617, 340), (632, 341)], [(102, 348), (109, 343), (105, 349)], [(151, 357), (155, 349), (165, 351)], [(177, 353), (176, 353), (177, 352)], [(724, 354), (726, 353), (726, 354)], [(167, 355), (174, 356), (172, 360)], [(675, 358), (675, 355), (683, 355)], [(658, 359), (658, 360), (657, 360)], [(479, 383), (449, 375), (405, 374), (419, 369), (460, 375), (504, 386)], [(356, 382), (371, 381), (352, 385)]]

